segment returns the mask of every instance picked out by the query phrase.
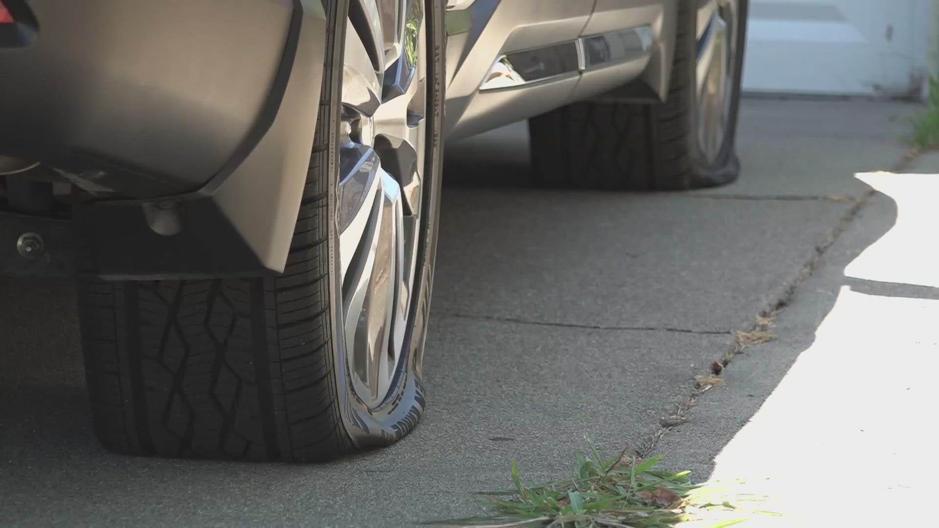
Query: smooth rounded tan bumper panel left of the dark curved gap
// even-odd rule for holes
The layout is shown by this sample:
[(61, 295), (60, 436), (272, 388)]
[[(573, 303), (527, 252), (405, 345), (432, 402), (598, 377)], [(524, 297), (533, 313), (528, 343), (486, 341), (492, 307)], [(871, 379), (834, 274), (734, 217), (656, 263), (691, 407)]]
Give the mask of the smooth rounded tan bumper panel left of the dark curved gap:
[(240, 148), (253, 148), (243, 143), (256, 127), (269, 126), (292, 0), (29, 7), (39, 38), (0, 51), (0, 148), (8, 153), (97, 165), (122, 194), (152, 197), (205, 185)]

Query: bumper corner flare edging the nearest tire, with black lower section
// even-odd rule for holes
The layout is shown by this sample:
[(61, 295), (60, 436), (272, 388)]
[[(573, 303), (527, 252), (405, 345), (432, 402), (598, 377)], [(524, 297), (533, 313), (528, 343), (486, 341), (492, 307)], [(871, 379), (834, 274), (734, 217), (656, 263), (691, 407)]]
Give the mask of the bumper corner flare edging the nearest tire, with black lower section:
[[(327, 23), (318, 0), (294, 0), (291, 33), (277, 81), (283, 93), (254, 148), (236, 152), (208, 183), (173, 200), (102, 200), (81, 205), (95, 269), (106, 278), (258, 275), (283, 272), (310, 164), (322, 85)], [(251, 140), (253, 138), (250, 138)], [(243, 156), (243, 158), (241, 157)], [(185, 228), (160, 232), (157, 213)], [(166, 211), (169, 209), (169, 211)], [(115, 241), (120, 241), (116, 244)]]

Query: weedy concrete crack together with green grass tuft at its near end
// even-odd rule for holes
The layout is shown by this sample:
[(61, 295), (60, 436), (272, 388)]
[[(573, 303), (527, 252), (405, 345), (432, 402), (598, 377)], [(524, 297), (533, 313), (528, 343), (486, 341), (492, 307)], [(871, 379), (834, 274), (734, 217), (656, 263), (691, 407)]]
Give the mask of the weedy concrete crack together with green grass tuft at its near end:
[[(933, 89), (936, 89), (935, 86)], [(936, 101), (939, 101), (939, 96)], [(893, 171), (900, 172), (920, 152), (919, 148), (909, 150)], [(782, 288), (777, 300), (761, 310), (746, 329), (734, 334), (731, 347), (720, 360), (711, 364), (711, 372), (695, 377), (691, 393), (675, 402), (674, 412), (659, 420), (656, 427), (632, 450), (633, 455), (626, 455), (630, 451), (626, 446), (617, 458), (604, 460), (591, 444), (592, 458), (577, 455), (577, 473), (573, 478), (535, 488), (527, 488), (522, 484), (513, 460), (511, 473), (516, 488), (480, 493), (488, 497), (484, 501), (488, 516), (424, 524), (477, 528), (667, 528), (685, 520), (703, 520), (701, 514), (722, 513), (731, 516), (725, 515), (726, 519), (712, 526), (731, 526), (747, 520), (747, 517), (738, 515), (747, 511), (757, 515), (778, 515), (742, 508), (743, 503), (760, 500), (752, 496), (736, 497), (731, 504), (731, 501), (724, 499), (728, 496), (726, 489), (694, 485), (688, 478), (689, 472), (672, 474), (655, 471), (654, 466), (661, 457), (649, 455), (671, 428), (688, 421), (687, 412), (695, 407), (704, 392), (724, 383), (720, 374), (737, 355), (776, 338), (771, 329), (776, 326), (779, 312), (791, 302), (796, 288), (815, 272), (824, 253), (875, 193), (871, 190), (851, 200), (842, 199), (841, 196), (829, 197), (828, 201), (850, 201), (853, 205), (824, 241), (815, 246), (815, 252)]]

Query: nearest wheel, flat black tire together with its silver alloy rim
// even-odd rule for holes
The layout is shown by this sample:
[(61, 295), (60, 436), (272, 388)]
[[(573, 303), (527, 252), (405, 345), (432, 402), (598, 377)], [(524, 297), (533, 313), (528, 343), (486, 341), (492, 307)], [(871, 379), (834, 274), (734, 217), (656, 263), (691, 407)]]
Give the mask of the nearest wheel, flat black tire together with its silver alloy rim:
[[(324, 1), (332, 38), (283, 274), (106, 282), (88, 270), (80, 280), (93, 425), (107, 449), (319, 461), (393, 443), (417, 425), (439, 208), (443, 13), (436, 0), (404, 4), (394, 15), (404, 19), (371, 23), (363, 17), (388, 14), (374, 0)], [(380, 27), (400, 28), (400, 39), (359, 36)], [(379, 67), (361, 70), (366, 62)], [(360, 77), (376, 101), (360, 104)], [(367, 174), (355, 170), (366, 158)], [(358, 239), (349, 224), (362, 226)]]

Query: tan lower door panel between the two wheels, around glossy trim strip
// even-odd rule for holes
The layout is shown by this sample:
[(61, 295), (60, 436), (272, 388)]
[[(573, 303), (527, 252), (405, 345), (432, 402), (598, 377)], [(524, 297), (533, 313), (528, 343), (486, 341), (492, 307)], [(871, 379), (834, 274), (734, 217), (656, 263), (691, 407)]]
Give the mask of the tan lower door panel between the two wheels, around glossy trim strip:
[[(475, 0), (448, 13), (447, 137), (457, 139), (542, 114), (640, 79), (664, 98), (675, 0)], [(545, 81), (481, 91), (504, 54), (648, 26), (648, 54)]]

